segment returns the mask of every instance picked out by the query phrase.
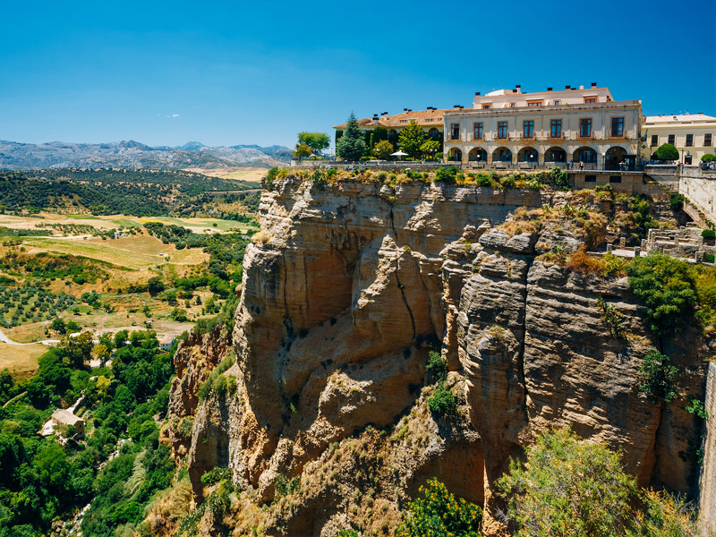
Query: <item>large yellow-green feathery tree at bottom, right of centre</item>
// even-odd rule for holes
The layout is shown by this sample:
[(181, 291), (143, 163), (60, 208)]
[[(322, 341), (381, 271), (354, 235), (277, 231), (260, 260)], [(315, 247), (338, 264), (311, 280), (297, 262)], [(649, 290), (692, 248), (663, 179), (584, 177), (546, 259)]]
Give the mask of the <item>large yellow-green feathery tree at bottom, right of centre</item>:
[(541, 435), (498, 481), (516, 537), (613, 537), (629, 516), (635, 480), (618, 454), (571, 430)]

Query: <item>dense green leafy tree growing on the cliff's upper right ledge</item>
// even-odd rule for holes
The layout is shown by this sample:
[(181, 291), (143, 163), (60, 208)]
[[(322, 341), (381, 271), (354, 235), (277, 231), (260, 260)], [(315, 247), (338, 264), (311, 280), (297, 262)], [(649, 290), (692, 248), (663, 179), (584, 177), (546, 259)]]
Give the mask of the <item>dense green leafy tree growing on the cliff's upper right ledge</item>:
[(650, 251), (626, 267), (629, 286), (647, 307), (646, 320), (659, 336), (683, 328), (694, 312), (694, 279), (686, 261), (668, 254)]

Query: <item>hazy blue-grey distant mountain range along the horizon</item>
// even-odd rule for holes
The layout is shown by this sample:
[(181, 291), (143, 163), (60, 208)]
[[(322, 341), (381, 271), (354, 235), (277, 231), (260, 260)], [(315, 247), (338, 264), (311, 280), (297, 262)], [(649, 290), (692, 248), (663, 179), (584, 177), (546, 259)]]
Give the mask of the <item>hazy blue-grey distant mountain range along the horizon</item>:
[(139, 141), (33, 144), (0, 141), (0, 169), (27, 170), (63, 167), (183, 169), (273, 166), (291, 159), (284, 146), (236, 145), (209, 147), (189, 141), (177, 147), (151, 147)]

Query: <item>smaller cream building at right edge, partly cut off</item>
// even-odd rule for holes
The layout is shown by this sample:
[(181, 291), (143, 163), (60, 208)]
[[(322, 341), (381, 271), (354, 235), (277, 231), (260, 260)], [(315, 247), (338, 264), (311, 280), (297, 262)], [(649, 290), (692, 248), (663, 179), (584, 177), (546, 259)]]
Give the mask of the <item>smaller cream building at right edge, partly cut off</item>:
[(711, 115), (649, 115), (644, 118), (642, 132), (644, 160), (650, 160), (665, 143), (678, 149), (678, 159), (684, 164), (697, 164), (703, 155), (716, 154), (716, 117)]

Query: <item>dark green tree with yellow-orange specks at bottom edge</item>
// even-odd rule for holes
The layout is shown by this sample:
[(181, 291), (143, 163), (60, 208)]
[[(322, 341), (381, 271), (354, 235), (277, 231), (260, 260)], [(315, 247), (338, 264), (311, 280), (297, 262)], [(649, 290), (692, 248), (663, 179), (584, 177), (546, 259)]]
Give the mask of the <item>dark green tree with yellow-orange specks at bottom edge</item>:
[(478, 537), (482, 509), (456, 499), (447, 487), (432, 478), (421, 487), (422, 498), (413, 499), (398, 526), (396, 537)]

